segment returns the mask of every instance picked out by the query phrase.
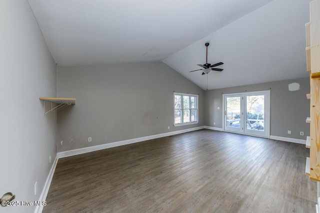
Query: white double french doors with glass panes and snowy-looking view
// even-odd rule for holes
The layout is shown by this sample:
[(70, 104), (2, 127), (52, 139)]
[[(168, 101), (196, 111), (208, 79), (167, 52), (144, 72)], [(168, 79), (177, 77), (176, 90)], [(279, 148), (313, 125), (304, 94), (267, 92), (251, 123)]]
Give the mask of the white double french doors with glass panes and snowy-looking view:
[(223, 95), (224, 130), (269, 137), (270, 91)]

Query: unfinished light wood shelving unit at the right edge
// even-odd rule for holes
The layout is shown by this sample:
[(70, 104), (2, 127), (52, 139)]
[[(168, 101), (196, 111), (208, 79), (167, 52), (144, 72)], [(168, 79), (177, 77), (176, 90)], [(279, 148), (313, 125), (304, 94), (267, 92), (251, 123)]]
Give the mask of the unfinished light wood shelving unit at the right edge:
[(305, 174), (320, 182), (320, 0), (310, 2), (310, 22), (305, 24), (305, 36), (306, 66), (310, 72), (310, 94), (306, 94), (310, 99), (310, 117), (306, 119), (310, 123), (310, 136), (305, 145), (310, 148), (310, 158), (306, 159)]

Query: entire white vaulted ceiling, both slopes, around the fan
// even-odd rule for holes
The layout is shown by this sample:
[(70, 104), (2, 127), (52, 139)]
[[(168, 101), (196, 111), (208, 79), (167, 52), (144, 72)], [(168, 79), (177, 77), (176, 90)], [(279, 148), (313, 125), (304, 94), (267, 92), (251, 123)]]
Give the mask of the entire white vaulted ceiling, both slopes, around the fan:
[(60, 66), (164, 59), (205, 89), (206, 75), (189, 71), (210, 41), (208, 62), (225, 64), (209, 89), (307, 76), (305, 0), (28, 1)]

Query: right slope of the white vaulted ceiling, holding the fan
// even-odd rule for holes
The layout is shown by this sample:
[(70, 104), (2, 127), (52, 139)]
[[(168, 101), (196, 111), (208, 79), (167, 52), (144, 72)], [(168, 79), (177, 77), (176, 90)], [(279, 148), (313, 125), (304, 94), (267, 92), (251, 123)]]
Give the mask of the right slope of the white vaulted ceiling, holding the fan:
[(206, 89), (206, 75), (189, 71), (205, 63), (204, 43), (210, 42), (208, 63), (222, 61), (224, 70), (208, 73), (208, 89), (307, 77), (308, 21), (307, 0), (273, 0), (163, 61)]

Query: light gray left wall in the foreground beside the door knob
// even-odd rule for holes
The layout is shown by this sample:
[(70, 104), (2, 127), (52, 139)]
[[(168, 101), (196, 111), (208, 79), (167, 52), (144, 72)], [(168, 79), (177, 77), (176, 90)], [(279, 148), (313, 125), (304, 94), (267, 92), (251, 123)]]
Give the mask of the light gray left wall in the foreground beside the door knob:
[[(39, 100), (55, 97), (56, 67), (27, 0), (0, 0), (0, 26), (0, 197), (12, 192), (14, 201), (34, 202), (56, 156), (56, 113), (43, 116)], [(0, 207), (0, 212), (34, 209)]]

